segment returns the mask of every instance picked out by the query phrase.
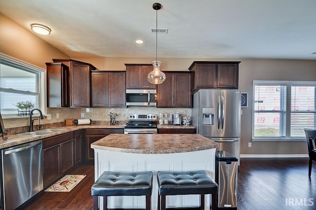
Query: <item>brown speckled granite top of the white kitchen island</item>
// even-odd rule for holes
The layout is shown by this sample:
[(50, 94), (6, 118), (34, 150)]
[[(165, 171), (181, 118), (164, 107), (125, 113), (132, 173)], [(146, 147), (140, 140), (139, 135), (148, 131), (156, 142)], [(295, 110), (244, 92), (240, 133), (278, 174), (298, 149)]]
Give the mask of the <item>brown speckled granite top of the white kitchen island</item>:
[(217, 148), (218, 143), (199, 134), (110, 134), (91, 144), (107, 151), (166, 154)]

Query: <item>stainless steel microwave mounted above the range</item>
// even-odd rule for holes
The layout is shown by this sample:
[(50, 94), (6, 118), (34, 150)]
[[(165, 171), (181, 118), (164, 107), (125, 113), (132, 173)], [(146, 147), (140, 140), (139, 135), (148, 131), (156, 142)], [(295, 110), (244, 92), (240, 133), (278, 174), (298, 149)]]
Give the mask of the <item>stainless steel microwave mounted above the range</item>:
[(156, 106), (157, 90), (149, 89), (127, 89), (126, 90), (126, 106)]

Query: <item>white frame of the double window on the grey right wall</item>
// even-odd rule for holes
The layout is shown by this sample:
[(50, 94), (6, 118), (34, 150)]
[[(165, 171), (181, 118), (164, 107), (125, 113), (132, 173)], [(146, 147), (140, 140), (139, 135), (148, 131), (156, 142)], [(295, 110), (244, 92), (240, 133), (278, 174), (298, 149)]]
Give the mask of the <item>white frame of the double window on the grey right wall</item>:
[[(255, 86), (256, 85), (284, 85), (286, 86), (286, 109), (285, 109), (285, 137), (254, 137), (255, 125)], [(253, 80), (252, 82), (252, 141), (305, 141), (305, 136), (290, 137), (291, 135), (291, 87), (292, 86), (313, 86), (316, 88), (316, 81), (274, 81), (274, 80)], [(315, 94), (316, 98), (316, 94)], [(316, 125), (316, 122), (314, 122)]]

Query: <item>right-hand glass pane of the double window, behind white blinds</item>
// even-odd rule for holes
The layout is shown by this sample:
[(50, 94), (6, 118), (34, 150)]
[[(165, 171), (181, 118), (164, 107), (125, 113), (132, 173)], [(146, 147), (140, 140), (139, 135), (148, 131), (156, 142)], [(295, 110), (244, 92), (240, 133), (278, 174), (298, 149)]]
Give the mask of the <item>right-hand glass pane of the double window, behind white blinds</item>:
[(315, 87), (291, 87), (291, 137), (305, 137), (303, 128), (315, 128)]

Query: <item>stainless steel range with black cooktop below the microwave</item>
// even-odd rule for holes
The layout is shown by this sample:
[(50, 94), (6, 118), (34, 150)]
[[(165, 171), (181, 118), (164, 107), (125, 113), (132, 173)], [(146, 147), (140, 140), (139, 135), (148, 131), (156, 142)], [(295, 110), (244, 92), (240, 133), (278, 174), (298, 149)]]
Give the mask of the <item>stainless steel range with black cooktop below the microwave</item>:
[(129, 114), (124, 134), (157, 134), (157, 115)]

